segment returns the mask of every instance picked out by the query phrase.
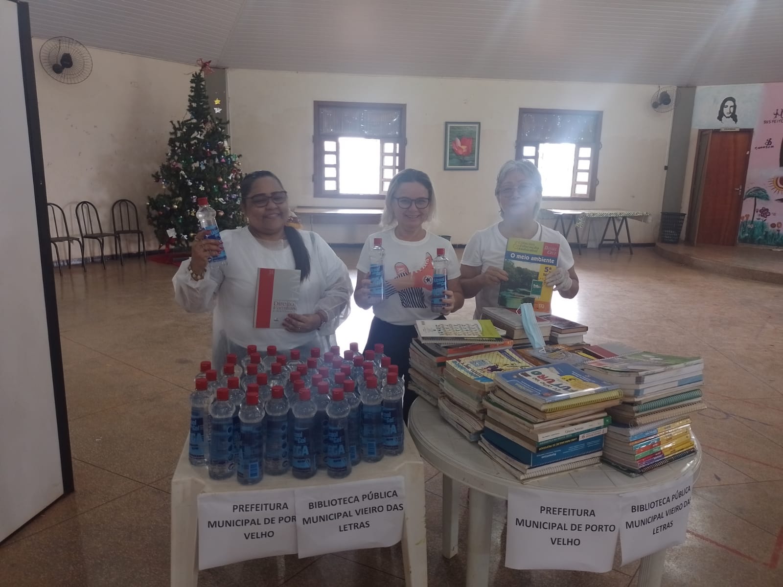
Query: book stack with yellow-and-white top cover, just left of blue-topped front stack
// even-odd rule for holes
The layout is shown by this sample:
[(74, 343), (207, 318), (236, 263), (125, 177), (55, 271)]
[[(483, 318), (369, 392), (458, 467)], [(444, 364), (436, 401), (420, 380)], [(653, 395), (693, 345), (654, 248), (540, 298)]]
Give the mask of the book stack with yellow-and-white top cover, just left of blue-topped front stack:
[(438, 409), (468, 440), (478, 441), (486, 414), (483, 398), (495, 388), (495, 376), (530, 366), (511, 348), (451, 359), (443, 369)]

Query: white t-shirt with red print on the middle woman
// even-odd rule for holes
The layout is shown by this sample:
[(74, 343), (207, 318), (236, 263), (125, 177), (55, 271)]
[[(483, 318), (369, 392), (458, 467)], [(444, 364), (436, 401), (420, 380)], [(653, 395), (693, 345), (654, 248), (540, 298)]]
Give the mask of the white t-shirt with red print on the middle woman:
[[(437, 317), (430, 310), (432, 297), (432, 260), (438, 249), (446, 249), (449, 259), (446, 279), (460, 276), (460, 263), (454, 247), (442, 236), (427, 232), (417, 241), (401, 240), (394, 229), (375, 232), (367, 237), (356, 268), (370, 272), (370, 249), (373, 239), (382, 239), (384, 247), (384, 300), (373, 305), (373, 313), (391, 324), (411, 326), (417, 320)], [(359, 287), (359, 284), (356, 284)]]

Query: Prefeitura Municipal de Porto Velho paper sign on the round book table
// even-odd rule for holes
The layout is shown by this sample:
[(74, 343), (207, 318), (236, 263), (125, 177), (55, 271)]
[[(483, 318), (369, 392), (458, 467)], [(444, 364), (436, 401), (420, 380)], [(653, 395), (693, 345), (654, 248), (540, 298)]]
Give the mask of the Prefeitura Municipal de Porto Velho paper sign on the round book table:
[(508, 490), (506, 566), (612, 571), (620, 512), (617, 495)]

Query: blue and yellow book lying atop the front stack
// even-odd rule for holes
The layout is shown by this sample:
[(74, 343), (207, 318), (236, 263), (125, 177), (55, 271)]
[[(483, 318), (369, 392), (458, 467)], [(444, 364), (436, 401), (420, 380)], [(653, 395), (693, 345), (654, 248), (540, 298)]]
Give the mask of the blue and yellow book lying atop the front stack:
[(498, 373), (495, 382), (508, 393), (525, 398), (524, 401), (532, 400), (534, 404), (560, 402), (580, 395), (619, 389), (618, 385), (609, 384), (568, 363)]

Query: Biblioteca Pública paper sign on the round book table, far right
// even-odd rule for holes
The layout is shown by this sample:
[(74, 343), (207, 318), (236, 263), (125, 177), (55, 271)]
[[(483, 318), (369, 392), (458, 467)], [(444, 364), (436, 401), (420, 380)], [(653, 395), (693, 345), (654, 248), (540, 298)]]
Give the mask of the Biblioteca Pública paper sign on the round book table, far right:
[(620, 495), (622, 564), (685, 542), (693, 474), (665, 485)]

